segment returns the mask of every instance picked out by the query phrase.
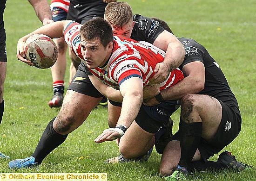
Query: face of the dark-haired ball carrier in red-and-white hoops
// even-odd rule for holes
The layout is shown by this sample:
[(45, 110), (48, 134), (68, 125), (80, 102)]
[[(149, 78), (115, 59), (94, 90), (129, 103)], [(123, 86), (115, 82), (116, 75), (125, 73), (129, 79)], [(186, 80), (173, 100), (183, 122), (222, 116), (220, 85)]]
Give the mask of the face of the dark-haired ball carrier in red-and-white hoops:
[(107, 48), (101, 44), (99, 38), (86, 40), (81, 37), (81, 53), (89, 69), (103, 66), (112, 52), (113, 42), (109, 42)]

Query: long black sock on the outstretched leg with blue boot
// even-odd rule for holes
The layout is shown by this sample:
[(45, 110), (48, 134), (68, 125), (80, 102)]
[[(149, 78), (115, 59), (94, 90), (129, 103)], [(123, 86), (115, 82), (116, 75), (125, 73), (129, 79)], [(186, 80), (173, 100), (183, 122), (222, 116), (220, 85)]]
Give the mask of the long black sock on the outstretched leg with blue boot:
[(61, 145), (67, 138), (67, 135), (61, 135), (54, 130), (53, 128), (54, 119), (52, 119), (50, 123), (47, 125), (32, 155), (35, 157), (35, 162), (41, 163), (43, 159), (52, 150), (54, 150), (59, 145)]

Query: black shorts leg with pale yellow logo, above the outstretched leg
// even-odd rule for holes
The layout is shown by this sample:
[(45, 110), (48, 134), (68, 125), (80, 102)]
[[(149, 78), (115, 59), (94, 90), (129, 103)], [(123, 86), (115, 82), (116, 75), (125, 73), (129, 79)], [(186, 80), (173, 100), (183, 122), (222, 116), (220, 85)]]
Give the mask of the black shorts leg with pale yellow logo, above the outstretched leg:
[(67, 89), (95, 98), (103, 97), (90, 81), (86, 69), (83, 63), (78, 66), (78, 70)]

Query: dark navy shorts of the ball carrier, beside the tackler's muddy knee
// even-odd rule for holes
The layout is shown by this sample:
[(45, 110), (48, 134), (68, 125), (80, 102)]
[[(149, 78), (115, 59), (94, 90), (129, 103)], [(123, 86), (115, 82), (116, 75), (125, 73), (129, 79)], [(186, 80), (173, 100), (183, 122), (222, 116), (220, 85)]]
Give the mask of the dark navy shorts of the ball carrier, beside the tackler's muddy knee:
[(164, 101), (156, 106), (142, 105), (135, 122), (141, 129), (149, 133), (156, 133), (178, 107), (177, 100)]

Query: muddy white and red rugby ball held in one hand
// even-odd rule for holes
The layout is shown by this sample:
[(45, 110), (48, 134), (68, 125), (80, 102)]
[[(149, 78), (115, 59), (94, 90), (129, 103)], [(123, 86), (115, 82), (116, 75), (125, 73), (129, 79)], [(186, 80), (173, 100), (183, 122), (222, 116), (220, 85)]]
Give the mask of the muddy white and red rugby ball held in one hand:
[(48, 69), (54, 65), (58, 57), (54, 41), (43, 34), (34, 34), (27, 38), (24, 45), (27, 60), (39, 69)]

